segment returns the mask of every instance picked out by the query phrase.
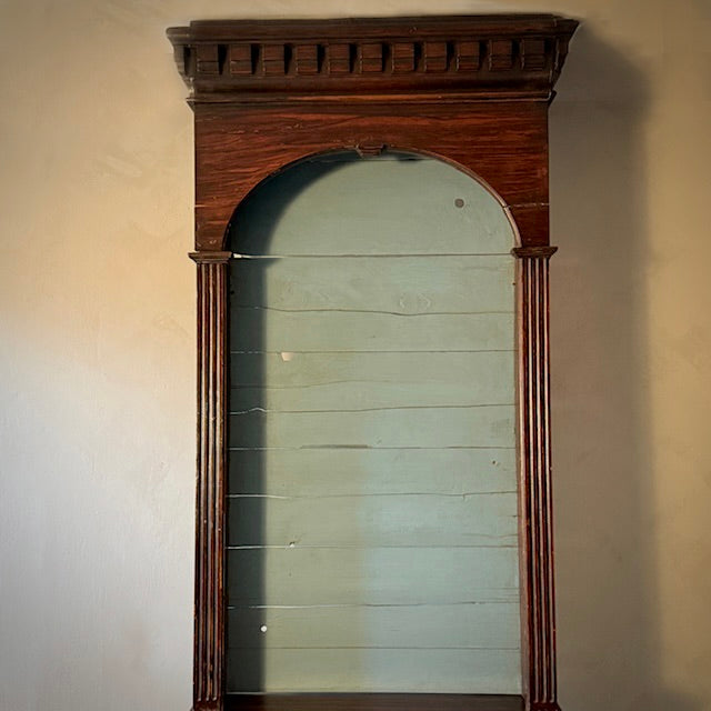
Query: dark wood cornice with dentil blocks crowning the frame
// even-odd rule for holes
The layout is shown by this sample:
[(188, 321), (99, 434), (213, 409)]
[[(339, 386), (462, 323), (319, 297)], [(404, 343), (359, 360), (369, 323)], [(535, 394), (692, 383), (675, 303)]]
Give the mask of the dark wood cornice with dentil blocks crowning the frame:
[(171, 28), (192, 102), (549, 100), (575, 20), (501, 14)]

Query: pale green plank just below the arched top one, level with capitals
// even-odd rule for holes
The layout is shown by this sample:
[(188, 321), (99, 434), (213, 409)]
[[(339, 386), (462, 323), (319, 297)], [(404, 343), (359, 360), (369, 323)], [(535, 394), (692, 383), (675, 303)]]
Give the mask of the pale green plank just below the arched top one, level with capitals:
[[(326, 242), (323, 249), (331, 249)], [(382, 247), (395, 249), (389, 242)], [(356, 248), (360, 246), (348, 247)], [(471, 249), (479, 247), (472, 243)], [(402, 316), (513, 310), (513, 260), (508, 252), (485, 257), (238, 259), (231, 271), (231, 303), (238, 309), (357, 308)]]

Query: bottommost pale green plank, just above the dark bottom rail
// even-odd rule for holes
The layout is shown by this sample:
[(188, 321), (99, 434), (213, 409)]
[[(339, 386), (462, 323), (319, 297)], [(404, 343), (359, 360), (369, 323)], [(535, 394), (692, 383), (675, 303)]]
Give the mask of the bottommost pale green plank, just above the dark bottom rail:
[[(251, 691), (254, 667), (267, 691), (391, 691), (511, 693), (519, 650), (323, 649), (244, 650), (229, 659), (228, 691)], [(475, 673), (472, 674), (472, 670)]]

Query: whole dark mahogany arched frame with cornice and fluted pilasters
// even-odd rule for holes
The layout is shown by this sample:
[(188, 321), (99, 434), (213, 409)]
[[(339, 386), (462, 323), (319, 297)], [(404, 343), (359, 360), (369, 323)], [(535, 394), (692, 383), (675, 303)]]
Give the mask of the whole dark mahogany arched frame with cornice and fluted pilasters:
[[(550, 14), (198, 21), (171, 28), (191, 89), (198, 266), (194, 711), (555, 711), (549, 405), (548, 106), (578, 23)], [(227, 231), (262, 180), (306, 157), (389, 148), (480, 181), (517, 234), (523, 697), (224, 691)]]

